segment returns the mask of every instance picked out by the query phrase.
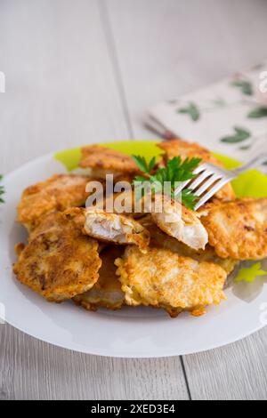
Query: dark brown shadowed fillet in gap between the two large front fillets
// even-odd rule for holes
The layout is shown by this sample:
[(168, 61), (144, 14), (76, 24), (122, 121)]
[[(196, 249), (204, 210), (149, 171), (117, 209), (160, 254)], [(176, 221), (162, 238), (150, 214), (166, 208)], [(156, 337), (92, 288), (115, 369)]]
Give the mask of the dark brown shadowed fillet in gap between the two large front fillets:
[(125, 303), (125, 293), (116, 276), (117, 267), (114, 261), (124, 253), (124, 247), (109, 246), (101, 252), (101, 269), (99, 279), (91, 290), (77, 294), (73, 301), (87, 310), (96, 310), (99, 307), (107, 309), (120, 309)]

